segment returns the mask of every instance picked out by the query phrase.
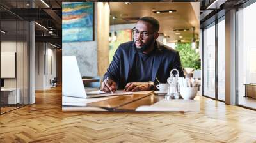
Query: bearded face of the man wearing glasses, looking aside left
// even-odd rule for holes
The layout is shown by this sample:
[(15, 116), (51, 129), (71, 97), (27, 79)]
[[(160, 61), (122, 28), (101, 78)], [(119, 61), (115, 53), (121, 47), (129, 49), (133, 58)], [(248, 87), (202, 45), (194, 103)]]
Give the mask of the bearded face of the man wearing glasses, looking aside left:
[(133, 33), (134, 43), (138, 49), (143, 46), (150, 46), (156, 40), (156, 36), (153, 34), (153, 26), (148, 22), (138, 21)]

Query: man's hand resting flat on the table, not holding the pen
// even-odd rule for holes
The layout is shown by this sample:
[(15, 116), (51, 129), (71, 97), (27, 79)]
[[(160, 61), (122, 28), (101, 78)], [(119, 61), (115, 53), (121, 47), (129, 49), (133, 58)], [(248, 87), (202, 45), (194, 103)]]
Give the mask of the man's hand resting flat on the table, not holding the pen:
[(130, 82), (124, 87), (124, 91), (149, 91), (148, 82)]

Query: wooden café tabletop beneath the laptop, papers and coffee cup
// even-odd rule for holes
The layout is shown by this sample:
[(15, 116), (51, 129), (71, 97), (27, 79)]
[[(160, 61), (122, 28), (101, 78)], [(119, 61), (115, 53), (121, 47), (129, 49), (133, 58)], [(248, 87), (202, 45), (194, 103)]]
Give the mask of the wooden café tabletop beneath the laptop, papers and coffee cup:
[[(156, 93), (154, 93), (154, 91), (134, 92), (133, 94), (128, 94), (128, 95), (99, 98), (99, 100), (97, 100), (96, 102), (94, 101), (89, 102), (84, 107), (62, 106), (62, 110), (63, 111), (134, 112), (136, 111), (136, 109), (140, 109), (140, 111), (156, 111), (156, 110), (189, 111), (191, 109), (191, 111), (197, 111), (197, 110), (199, 111), (199, 107), (200, 107), (199, 98), (196, 98), (196, 100), (191, 100), (191, 101), (188, 101), (188, 100), (167, 101), (164, 99), (164, 97), (165, 97), (164, 95), (157, 95)], [(87, 98), (87, 99), (88, 101), (93, 100), (93, 98)], [(181, 103), (181, 106), (179, 106), (180, 103)], [(143, 108), (138, 108), (138, 107), (143, 107)]]

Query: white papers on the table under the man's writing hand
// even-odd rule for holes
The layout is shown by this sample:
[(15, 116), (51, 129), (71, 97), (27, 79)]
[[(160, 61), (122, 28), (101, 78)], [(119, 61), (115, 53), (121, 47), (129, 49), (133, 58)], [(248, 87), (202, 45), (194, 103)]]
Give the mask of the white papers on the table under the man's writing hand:
[(114, 93), (106, 93), (104, 91), (91, 91), (87, 92), (87, 98), (93, 98), (93, 97), (103, 97), (103, 96), (117, 96), (117, 95), (127, 95), (127, 94), (133, 94), (132, 92), (124, 92), (122, 90), (115, 91)]

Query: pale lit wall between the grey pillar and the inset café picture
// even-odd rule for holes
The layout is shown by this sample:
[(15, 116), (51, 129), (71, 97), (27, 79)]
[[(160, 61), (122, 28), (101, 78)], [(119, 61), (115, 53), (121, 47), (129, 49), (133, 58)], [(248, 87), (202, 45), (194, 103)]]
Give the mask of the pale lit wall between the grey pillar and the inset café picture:
[(35, 47), (35, 90), (49, 89), (50, 79), (56, 77), (56, 49), (49, 43), (36, 43)]

